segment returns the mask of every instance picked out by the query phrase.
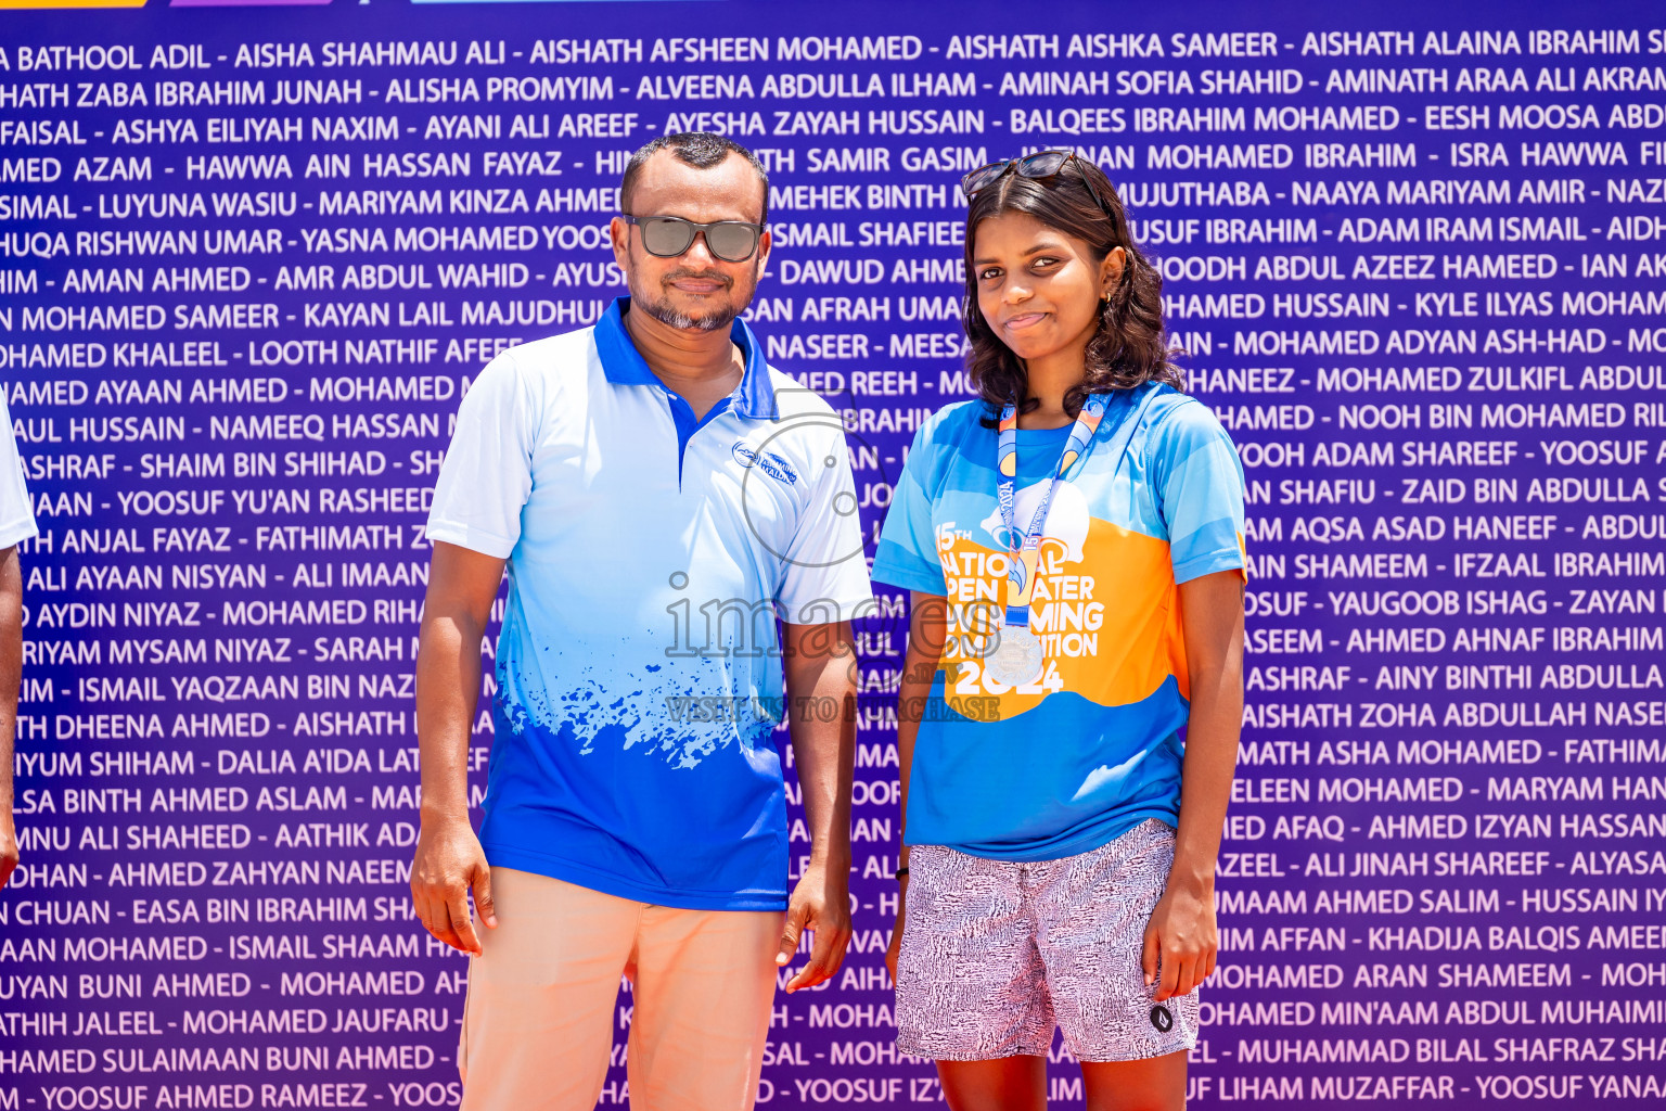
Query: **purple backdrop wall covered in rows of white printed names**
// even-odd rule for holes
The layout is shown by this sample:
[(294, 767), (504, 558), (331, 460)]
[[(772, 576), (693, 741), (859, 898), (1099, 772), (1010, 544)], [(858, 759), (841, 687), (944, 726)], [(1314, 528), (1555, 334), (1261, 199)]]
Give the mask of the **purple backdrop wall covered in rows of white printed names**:
[[(870, 536), (966, 393), (960, 172), (1075, 145), (1161, 258), (1254, 565), (1193, 1106), (1658, 1106), (1663, 55), (1643, 5), (0, 13), (42, 525), (0, 1108), (455, 1104), (465, 963), (407, 898), (428, 488), (485, 358), (623, 290), (623, 158), (686, 128), (768, 162), (751, 320)], [(940, 1099), (881, 959), (903, 628), (861, 628), (856, 939), (763, 1106)]]

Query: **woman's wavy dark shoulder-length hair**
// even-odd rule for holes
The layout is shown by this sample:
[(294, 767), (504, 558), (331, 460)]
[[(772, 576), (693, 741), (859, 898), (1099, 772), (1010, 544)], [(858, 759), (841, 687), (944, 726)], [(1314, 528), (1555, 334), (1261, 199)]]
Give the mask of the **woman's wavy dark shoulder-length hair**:
[[(1103, 207), (1088, 192), (1085, 178), (1105, 200)], [(966, 370), (985, 403), (995, 413), (1011, 398), (1023, 398), (1020, 411), (1040, 405), (1028, 396), (1018, 356), (1001, 343), (978, 308), (978, 270), (971, 260), (978, 225), (1006, 212), (1021, 212), (1083, 240), (1096, 263), (1118, 247), (1126, 255), (1116, 288), (1100, 306), (1100, 328), (1088, 341), (1086, 376), (1065, 396), (1065, 408), (1078, 413), (1090, 393), (1131, 390), (1146, 381), (1166, 381), (1183, 390), (1185, 375), (1171, 361), (1181, 351), (1170, 348), (1163, 331), (1163, 275), (1135, 243), (1123, 200), (1105, 172), (1085, 158), (1071, 158), (1045, 180), (1008, 173), (978, 190), (966, 210), (965, 326), (971, 340)], [(985, 423), (993, 426), (993, 416)]]

